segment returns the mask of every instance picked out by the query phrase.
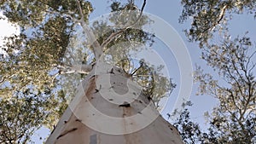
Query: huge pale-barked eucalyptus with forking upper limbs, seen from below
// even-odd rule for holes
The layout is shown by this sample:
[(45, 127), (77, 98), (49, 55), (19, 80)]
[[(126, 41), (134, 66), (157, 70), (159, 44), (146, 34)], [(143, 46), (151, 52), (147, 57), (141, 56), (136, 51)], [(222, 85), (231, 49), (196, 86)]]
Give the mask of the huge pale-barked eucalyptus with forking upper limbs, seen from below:
[[(134, 44), (137, 46), (137, 43), (114, 43), (112, 48), (108, 48), (108, 44), (111, 44), (121, 33), (142, 24), (140, 20), (143, 20), (146, 0), (143, 2), (142, 9), (135, 13), (135, 18), (134, 12), (131, 11), (134, 7), (130, 7), (133, 2), (126, 5), (131, 9), (128, 12), (122, 9), (111, 15), (116, 20), (115, 26), (118, 26), (119, 30), (111, 32), (102, 43), (99, 43), (84, 22), (81, 4), (77, 2), (81, 15), (79, 23), (88, 36), (95, 62), (84, 66), (89, 74), (79, 85), (73, 101), (63, 113), (46, 143), (183, 143), (177, 130), (171, 124), (167, 124), (153, 107), (154, 93), (152, 91), (154, 90), (152, 89), (156, 88), (157, 82), (164, 81), (166, 84), (166, 80), (154, 81), (153, 74), (151, 74), (152, 68), (145, 65), (143, 60), (140, 60), (137, 69), (133, 70), (134, 65), (129, 64), (127, 68), (126, 63), (131, 61), (129, 56), (125, 56), (129, 55), (129, 51), (126, 51), (127, 47), (132, 47)], [(123, 37), (120, 37), (122, 41)], [(110, 49), (109, 54), (108, 49)], [(111, 53), (113, 49), (114, 52)], [(125, 51), (125, 55), (119, 49)], [(117, 65), (111, 65), (108, 63), (109, 59), (121, 61), (118, 61)], [(137, 78), (141, 80), (138, 84), (143, 85), (145, 82), (154, 81), (154, 85), (148, 87), (149, 83), (141, 89), (134, 83), (133, 77), (141, 76), (139, 72), (149, 77), (148, 79)], [(166, 85), (164, 88), (170, 89)], [(157, 96), (156, 100), (161, 98)], [(155, 133), (155, 130), (161, 132)], [(148, 138), (150, 133), (154, 135)]]

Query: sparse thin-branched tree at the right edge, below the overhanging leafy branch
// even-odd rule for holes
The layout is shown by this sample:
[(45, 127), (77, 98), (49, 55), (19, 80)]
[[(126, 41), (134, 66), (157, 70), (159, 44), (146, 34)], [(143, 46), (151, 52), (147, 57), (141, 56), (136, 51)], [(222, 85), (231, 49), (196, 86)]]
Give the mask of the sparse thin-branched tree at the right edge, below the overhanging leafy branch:
[[(256, 53), (247, 37), (226, 39), (223, 45), (212, 45), (203, 59), (218, 71), (223, 81), (198, 68), (195, 80), (201, 94), (218, 100), (210, 117), (218, 142), (250, 143), (256, 136), (256, 81), (253, 71)], [(254, 60), (253, 60), (254, 59)]]

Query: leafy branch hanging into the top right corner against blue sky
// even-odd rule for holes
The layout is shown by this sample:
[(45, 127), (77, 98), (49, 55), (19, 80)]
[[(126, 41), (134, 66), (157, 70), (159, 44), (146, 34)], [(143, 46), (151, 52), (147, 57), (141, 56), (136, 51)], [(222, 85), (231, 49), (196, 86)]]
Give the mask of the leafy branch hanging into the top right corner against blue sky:
[(254, 13), (256, 18), (256, 2), (254, 0), (183, 0), (183, 12), (179, 21), (192, 19), (189, 30), (185, 30), (190, 41), (205, 45), (213, 37), (214, 32), (228, 31), (228, 22), (233, 14)]

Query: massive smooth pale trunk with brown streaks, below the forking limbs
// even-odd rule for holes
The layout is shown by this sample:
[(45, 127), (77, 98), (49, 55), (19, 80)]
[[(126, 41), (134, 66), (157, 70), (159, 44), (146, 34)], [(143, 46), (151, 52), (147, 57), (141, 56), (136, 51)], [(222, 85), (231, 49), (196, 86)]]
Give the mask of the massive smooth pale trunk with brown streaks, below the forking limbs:
[[(183, 143), (176, 128), (160, 116), (125, 72), (111, 66), (101, 72), (95, 69), (79, 86), (46, 144)], [(124, 97), (109, 95), (111, 90)]]

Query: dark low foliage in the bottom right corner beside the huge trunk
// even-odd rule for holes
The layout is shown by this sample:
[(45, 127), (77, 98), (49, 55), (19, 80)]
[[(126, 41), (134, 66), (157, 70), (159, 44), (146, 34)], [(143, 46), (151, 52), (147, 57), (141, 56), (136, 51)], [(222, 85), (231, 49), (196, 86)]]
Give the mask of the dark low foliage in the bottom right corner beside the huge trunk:
[[(227, 125), (224, 125), (225, 122), (224, 119), (218, 118), (218, 117), (212, 117), (210, 120), (210, 123), (207, 124), (207, 129), (201, 129), (200, 124), (195, 123), (193, 120), (191, 120), (191, 116), (189, 113), (189, 108), (191, 107), (192, 103), (188, 101), (184, 105), (183, 112), (180, 113), (180, 117), (175, 119), (173, 122), (173, 125), (179, 130), (180, 135), (183, 138), (184, 143), (188, 144), (218, 144), (218, 143), (241, 143), (241, 144), (247, 144), (247, 143), (254, 143), (255, 137), (252, 138), (246, 137), (247, 134), (242, 134), (243, 131), (239, 129), (239, 124), (236, 122), (230, 122), (230, 127), (226, 127)], [(175, 114), (175, 113), (173, 113)], [(247, 122), (245, 124), (245, 127), (249, 128), (247, 131), (253, 132), (252, 124), (254, 123), (255, 126), (255, 119), (252, 122)], [(233, 124), (231, 124), (233, 123)], [(251, 123), (251, 124), (250, 124)], [(250, 125), (250, 126), (248, 126)], [(228, 130), (229, 129), (229, 130)], [(227, 130), (227, 131), (224, 131)], [(246, 131), (246, 132), (247, 132)], [(228, 133), (226, 133), (228, 132)], [(230, 134), (230, 133), (231, 134)], [(255, 128), (254, 128), (254, 135), (255, 135)]]

